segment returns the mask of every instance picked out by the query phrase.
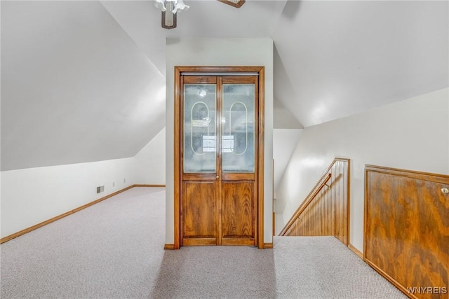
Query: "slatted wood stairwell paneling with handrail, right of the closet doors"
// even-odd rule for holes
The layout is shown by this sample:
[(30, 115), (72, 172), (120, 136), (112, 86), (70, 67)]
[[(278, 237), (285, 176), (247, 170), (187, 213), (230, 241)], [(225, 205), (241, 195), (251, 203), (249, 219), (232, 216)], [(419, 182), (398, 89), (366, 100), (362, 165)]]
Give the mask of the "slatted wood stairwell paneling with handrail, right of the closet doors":
[(335, 236), (349, 242), (349, 159), (336, 158), (283, 228), (284, 236)]

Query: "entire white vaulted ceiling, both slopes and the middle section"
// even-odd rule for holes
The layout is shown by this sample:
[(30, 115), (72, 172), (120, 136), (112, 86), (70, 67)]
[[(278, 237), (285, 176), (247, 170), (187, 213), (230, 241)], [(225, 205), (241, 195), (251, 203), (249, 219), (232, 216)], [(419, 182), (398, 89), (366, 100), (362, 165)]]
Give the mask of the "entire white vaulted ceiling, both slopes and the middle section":
[(167, 30), (150, 0), (1, 1), (1, 169), (138, 153), (165, 126), (167, 37), (273, 39), (280, 128), (449, 85), (448, 1), (186, 2)]

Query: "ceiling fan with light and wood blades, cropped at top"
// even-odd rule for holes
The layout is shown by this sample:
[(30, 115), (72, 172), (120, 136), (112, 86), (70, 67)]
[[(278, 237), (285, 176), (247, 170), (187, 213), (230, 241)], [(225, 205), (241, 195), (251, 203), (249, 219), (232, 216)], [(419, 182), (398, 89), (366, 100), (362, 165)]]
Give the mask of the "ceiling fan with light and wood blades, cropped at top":
[[(162, 11), (162, 28), (176, 28), (176, 13), (189, 9), (190, 6), (184, 3), (184, 0), (154, 0), (154, 5)], [(218, 0), (224, 4), (229, 4), (235, 8), (241, 8), (245, 0)]]

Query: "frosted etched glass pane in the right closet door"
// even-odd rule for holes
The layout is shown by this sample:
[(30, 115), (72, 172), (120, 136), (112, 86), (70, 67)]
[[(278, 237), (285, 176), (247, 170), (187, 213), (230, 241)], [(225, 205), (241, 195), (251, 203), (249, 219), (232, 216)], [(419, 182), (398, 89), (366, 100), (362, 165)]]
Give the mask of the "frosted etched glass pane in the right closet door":
[(222, 172), (254, 172), (254, 103), (254, 84), (223, 84)]

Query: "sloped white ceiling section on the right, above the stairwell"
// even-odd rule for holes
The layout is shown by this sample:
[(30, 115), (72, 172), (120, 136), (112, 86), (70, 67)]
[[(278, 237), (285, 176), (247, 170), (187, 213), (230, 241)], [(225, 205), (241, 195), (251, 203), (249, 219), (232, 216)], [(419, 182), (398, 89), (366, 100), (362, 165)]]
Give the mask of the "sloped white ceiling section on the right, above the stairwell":
[(308, 127), (448, 87), (448, 5), (288, 1), (275, 98)]

